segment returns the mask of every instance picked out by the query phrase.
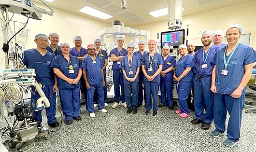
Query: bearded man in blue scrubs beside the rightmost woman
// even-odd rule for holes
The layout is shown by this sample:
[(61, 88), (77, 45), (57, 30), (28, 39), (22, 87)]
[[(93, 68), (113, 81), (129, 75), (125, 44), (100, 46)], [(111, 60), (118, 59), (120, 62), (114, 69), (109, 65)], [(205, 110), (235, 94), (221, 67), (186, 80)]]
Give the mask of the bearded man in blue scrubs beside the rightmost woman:
[[(195, 55), (195, 80), (194, 80), (194, 104), (195, 119), (192, 124), (200, 124), (201, 129), (207, 130), (213, 122), (213, 93), (211, 92), (211, 81), (214, 55), (219, 46), (212, 45), (213, 31), (206, 30), (202, 33), (201, 41), (203, 48), (199, 49)], [(204, 112), (205, 111), (205, 112)]]

